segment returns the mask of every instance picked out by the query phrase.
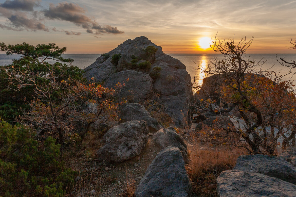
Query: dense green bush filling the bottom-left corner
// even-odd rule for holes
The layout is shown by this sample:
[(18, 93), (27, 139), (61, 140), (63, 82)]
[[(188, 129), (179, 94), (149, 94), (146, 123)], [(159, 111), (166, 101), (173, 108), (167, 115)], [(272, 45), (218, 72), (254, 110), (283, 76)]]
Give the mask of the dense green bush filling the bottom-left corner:
[(64, 196), (75, 172), (59, 160), (60, 145), (3, 120), (0, 131), (0, 196)]

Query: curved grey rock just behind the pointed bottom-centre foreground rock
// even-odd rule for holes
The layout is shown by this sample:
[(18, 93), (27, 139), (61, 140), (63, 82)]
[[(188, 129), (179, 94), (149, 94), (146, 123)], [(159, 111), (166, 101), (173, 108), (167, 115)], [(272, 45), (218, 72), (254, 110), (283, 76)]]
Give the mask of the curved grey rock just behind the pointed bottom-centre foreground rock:
[(164, 149), (168, 146), (178, 147), (182, 152), (185, 163), (189, 163), (187, 145), (185, 144), (183, 138), (179, 136), (178, 133), (176, 133), (173, 127), (160, 129), (154, 133), (152, 140), (154, 141), (155, 145), (161, 149)]

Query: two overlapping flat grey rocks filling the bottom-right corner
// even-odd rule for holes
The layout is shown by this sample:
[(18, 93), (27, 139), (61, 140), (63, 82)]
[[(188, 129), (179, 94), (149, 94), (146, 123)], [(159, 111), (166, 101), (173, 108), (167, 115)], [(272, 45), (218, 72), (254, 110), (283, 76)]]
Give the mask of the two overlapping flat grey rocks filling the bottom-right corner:
[(218, 196), (295, 196), (296, 168), (282, 157), (243, 155), (217, 178)]

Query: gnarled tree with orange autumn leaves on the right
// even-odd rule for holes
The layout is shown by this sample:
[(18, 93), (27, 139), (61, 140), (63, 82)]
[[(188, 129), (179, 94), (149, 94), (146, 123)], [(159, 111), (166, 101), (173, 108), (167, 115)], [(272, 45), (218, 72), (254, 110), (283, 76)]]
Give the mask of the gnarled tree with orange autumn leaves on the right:
[[(215, 87), (215, 97), (201, 100), (200, 110), (215, 114), (229, 113), (235, 126), (214, 131), (215, 137), (227, 139), (235, 134), (235, 146), (244, 146), (250, 154), (276, 154), (280, 148), (295, 146), (296, 98), (294, 85), (274, 72), (262, 72), (263, 62), (245, 60), (245, 51), (252, 39), (213, 42), (213, 50), (224, 54), (223, 60), (214, 59), (205, 73), (221, 79)], [(213, 94), (213, 92), (212, 92)], [(233, 138), (232, 138), (233, 139)]]

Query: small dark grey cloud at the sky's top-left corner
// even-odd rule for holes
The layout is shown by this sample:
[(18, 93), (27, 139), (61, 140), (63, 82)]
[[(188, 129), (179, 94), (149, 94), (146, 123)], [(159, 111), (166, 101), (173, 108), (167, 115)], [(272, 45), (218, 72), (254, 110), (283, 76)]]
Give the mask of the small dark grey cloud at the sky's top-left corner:
[(33, 11), (34, 6), (39, 6), (41, 0), (6, 0), (0, 7), (14, 10)]

